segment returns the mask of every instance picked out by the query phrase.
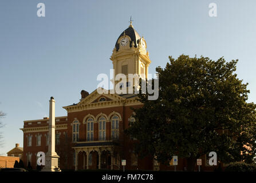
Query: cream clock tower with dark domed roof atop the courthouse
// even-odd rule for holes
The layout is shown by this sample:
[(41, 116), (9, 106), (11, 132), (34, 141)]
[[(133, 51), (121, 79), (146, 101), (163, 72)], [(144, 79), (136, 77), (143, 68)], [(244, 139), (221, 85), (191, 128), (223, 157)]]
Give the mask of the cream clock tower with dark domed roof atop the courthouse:
[[(120, 73), (126, 75), (127, 87), (130, 86), (128, 74), (138, 74), (143, 79), (148, 78), (148, 66), (151, 60), (146, 49), (147, 43), (145, 39), (140, 37), (133, 28), (132, 21), (130, 21), (129, 27), (117, 38), (110, 58), (113, 63), (113, 69), (115, 70), (115, 76)], [(117, 83), (119, 81), (115, 81), (115, 86)]]

